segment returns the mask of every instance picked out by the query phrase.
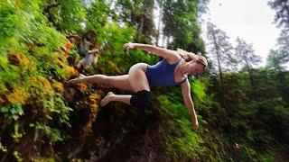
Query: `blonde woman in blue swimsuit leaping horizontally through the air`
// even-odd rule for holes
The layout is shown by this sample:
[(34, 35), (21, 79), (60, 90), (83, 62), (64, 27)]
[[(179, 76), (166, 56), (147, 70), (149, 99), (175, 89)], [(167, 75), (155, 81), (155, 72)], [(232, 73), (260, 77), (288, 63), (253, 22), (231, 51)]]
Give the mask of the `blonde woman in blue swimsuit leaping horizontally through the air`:
[(70, 80), (70, 83), (79, 81), (100, 83), (117, 87), (121, 90), (135, 92), (133, 95), (120, 95), (109, 92), (101, 100), (100, 105), (104, 106), (113, 101), (133, 105), (142, 114), (141, 118), (144, 117), (144, 106), (151, 101), (151, 86), (181, 85), (184, 103), (191, 113), (193, 128), (197, 130), (199, 123), (191, 100), (191, 86), (187, 77), (191, 75), (199, 76), (208, 66), (206, 58), (182, 49), (162, 49), (139, 43), (126, 43), (124, 49), (143, 49), (163, 57), (163, 60), (154, 66), (137, 63), (133, 67), (130, 67), (128, 75), (124, 76), (80, 75), (78, 78)]

